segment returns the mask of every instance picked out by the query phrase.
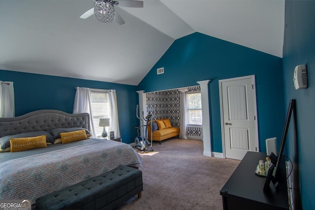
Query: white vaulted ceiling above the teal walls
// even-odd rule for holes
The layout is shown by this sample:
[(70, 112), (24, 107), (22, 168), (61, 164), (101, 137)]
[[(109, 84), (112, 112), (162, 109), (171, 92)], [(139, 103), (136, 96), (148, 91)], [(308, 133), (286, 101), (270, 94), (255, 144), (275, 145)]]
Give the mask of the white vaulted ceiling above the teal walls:
[(284, 0), (144, 0), (124, 25), (79, 18), (94, 2), (0, 0), (0, 69), (138, 85), (196, 31), (282, 58)]

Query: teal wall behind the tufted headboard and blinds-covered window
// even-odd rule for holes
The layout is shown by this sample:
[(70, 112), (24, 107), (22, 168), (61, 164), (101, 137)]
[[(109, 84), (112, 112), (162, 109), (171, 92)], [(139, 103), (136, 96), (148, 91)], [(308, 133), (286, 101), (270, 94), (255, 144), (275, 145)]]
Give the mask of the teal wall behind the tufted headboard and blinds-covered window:
[(136, 86), (6, 70), (0, 70), (0, 80), (14, 83), (15, 116), (40, 109), (72, 113), (75, 87), (115, 89), (122, 140), (134, 142), (137, 134), (134, 126), (139, 124), (135, 114)]

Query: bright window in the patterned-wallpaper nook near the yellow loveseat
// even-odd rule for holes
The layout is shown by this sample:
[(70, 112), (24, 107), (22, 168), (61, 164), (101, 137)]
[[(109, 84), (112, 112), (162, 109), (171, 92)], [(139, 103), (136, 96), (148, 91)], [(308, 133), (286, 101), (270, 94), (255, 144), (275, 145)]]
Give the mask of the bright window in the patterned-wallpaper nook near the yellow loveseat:
[(201, 93), (186, 93), (187, 122), (191, 125), (202, 125)]

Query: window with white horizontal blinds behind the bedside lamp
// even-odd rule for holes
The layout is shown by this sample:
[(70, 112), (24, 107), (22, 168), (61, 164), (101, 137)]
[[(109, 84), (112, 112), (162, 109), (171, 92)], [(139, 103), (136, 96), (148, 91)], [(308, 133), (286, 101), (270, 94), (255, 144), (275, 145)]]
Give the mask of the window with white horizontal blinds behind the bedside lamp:
[[(98, 126), (98, 120), (100, 118), (110, 118), (109, 117), (109, 99), (108, 99), (107, 90), (91, 89), (91, 108), (92, 108), (95, 135), (97, 138), (101, 138), (103, 127)], [(105, 129), (107, 133), (109, 133), (109, 127), (105, 127)]]

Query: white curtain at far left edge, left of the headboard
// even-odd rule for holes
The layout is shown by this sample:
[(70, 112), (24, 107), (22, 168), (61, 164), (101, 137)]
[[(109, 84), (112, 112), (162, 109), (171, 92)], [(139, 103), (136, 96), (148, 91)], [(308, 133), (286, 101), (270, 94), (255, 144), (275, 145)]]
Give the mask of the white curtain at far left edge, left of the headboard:
[(0, 81), (0, 118), (13, 118), (14, 115), (13, 82)]

